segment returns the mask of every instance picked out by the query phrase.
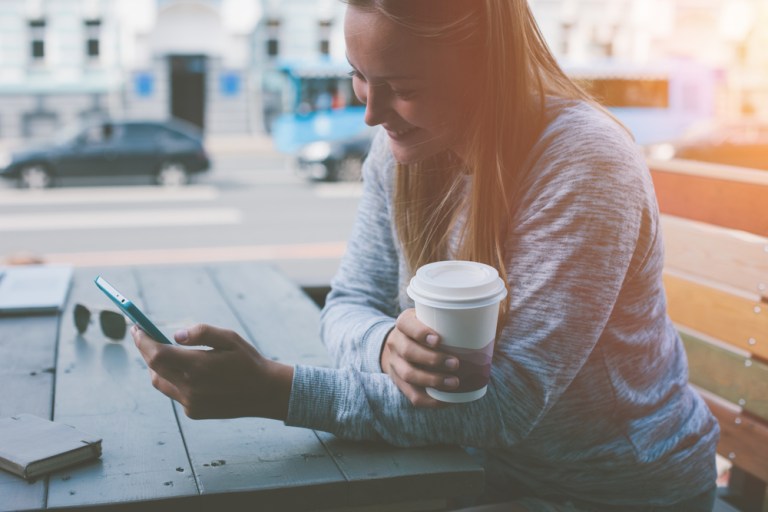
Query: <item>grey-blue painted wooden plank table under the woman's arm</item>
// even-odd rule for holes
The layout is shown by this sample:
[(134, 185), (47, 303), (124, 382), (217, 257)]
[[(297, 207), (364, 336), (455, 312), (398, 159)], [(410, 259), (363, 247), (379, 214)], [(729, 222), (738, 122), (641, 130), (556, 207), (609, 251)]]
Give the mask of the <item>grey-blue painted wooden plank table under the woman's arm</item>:
[(77, 269), (60, 315), (0, 317), (0, 417), (73, 425), (101, 436), (103, 454), (32, 483), (0, 471), (0, 510), (420, 510), (481, 492), (482, 468), (458, 447), (348, 442), (262, 418), (190, 420), (152, 387), (130, 335), (110, 341), (98, 320), (77, 333), (76, 303), (110, 309), (98, 274), (168, 334), (206, 322), (276, 360), (330, 364), (318, 308), (270, 266)]

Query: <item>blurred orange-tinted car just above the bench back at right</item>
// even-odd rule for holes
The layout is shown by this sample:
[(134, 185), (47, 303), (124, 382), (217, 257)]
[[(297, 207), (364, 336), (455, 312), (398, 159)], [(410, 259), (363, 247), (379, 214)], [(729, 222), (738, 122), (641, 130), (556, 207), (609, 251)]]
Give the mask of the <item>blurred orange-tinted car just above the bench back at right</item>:
[(652, 144), (650, 158), (682, 158), (768, 170), (768, 124), (757, 122), (708, 124), (680, 140)]

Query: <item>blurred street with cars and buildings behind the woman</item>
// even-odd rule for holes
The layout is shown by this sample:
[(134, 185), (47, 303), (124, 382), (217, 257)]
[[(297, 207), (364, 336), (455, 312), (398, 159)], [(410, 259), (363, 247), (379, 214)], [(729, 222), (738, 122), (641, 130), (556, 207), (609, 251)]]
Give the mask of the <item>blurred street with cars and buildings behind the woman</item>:
[[(768, 0), (530, 4), (563, 68), (649, 158), (768, 169)], [(266, 260), (327, 284), (372, 136), (344, 9), (0, 2), (0, 264)], [(171, 142), (121, 124), (169, 119), (184, 123)]]

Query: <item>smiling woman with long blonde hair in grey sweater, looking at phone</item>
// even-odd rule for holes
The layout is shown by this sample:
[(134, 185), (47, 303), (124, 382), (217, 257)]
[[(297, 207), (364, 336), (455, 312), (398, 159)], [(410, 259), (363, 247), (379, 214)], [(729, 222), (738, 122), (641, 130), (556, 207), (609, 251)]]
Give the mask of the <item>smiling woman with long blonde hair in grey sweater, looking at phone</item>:
[[(383, 130), (323, 310), (337, 368), (210, 326), (176, 336), (208, 352), (134, 330), (155, 386), (193, 418), (474, 447), (497, 510), (711, 510), (718, 427), (687, 385), (629, 134), (558, 68), (524, 0), (352, 0), (345, 37)], [(486, 396), (450, 406), (424, 388), (455, 389), (460, 363), (404, 293), (443, 259), (492, 265), (509, 289)]]

